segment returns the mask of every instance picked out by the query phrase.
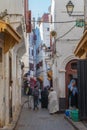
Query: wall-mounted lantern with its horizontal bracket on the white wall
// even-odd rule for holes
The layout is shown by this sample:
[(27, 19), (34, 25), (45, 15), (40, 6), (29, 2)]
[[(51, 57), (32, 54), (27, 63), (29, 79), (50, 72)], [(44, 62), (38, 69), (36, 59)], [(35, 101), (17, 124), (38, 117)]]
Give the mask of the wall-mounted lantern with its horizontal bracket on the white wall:
[(69, 16), (84, 16), (83, 14), (72, 15), (73, 9), (74, 9), (74, 4), (72, 3), (72, 1), (69, 1), (67, 3), (66, 9), (67, 9), (67, 13), (69, 14)]

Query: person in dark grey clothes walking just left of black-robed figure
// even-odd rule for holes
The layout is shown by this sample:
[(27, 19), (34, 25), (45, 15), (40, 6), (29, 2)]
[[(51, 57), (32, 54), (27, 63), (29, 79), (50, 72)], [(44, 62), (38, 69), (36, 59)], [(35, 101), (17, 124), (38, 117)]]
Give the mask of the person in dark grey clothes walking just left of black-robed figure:
[(34, 102), (33, 110), (35, 110), (36, 108), (38, 109), (38, 100), (39, 100), (39, 90), (38, 86), (35, 86), (33, 90), (33, 102)]

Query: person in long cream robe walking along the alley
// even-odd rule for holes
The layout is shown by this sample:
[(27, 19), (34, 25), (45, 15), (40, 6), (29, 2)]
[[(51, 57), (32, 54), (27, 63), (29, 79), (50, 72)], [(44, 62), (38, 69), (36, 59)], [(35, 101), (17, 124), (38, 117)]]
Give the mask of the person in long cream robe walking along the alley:
[(50, 88), (48, 99), (49, 99), (49, 113), (54, 114), (58, 112), (57, 93), (56, 91), (54, 91), (53, 88)]

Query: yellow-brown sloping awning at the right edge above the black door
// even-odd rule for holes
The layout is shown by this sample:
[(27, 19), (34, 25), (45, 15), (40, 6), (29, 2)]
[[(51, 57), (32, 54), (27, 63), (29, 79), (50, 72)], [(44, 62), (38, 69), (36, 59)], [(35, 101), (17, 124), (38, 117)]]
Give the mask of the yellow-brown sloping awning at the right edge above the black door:
[(87, 30), (85, 30), (80, 42), (75, 49), (75, 56), (81, 57), (87, 52)]

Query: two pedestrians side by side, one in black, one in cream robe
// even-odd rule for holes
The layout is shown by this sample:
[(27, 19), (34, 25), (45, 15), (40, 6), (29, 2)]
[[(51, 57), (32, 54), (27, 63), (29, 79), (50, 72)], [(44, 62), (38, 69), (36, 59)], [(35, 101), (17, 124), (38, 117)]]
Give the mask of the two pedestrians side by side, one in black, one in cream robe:
[(50, 114), (58, 112), (57, 93), (53, 87), (47, 89), (45, 87), (41, 92), (41, 108), (48, 108)]

